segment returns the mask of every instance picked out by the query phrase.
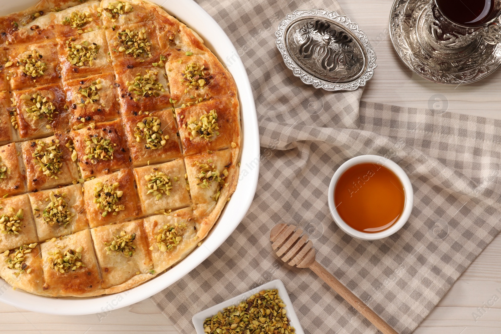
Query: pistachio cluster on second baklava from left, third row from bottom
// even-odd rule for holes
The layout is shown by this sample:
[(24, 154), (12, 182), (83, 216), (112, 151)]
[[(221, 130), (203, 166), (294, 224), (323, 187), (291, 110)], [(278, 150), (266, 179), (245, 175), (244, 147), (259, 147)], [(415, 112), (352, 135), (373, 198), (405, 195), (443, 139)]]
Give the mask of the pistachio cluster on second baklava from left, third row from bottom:
[(58, 179), (56, 174), (61, 174), (61, 167), (63, 167), (59, 139), (53, 139), (50, 144), (37, 140), (35, 144), (37, 147), (32, 156), (35, 163), (39, 165), (39, 171), (51, 178)]

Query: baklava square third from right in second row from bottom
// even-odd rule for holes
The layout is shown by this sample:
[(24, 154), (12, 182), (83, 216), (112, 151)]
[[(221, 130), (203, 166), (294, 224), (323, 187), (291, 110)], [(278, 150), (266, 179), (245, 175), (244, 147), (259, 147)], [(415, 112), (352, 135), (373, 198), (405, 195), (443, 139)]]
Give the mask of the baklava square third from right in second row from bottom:
[(91, 228), (141, 214), (134, 176), (129, 169), (85, 182), (84, 200)]

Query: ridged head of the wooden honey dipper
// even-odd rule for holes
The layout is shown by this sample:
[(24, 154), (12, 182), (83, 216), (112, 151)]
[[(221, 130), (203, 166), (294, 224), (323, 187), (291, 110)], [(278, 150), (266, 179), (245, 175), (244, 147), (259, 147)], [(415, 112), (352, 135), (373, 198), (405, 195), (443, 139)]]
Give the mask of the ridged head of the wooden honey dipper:
[(308, 235), (294, 225), (277, 224), (270, 232), (272, 248), (289, 265), (308, 268), (315, 261), (315, 248)]

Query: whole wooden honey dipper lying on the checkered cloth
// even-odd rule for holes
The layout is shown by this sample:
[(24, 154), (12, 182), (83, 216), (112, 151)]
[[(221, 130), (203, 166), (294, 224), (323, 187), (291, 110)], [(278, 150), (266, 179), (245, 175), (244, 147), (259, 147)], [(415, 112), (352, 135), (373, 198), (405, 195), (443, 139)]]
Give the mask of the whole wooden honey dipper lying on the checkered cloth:
[(327, 269), (315, 260), (313, 242), (308, 235), (294, 225), (277, 224), (270, 232), (272, 248), (284, 262), (298, 268), (310, 268), (341, 297), (367, 318), (384, 334), (398, 334), (379, 315), (369, 308), (362, 300), (353, 294), (346, 286), (336, 279)]

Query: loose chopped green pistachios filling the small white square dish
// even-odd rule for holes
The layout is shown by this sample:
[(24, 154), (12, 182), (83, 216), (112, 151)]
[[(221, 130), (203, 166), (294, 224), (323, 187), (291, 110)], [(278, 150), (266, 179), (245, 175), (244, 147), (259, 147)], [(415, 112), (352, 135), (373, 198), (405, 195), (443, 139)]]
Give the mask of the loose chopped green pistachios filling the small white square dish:
[(277, 289), (263, 290), (203, 321), (207, 334), (294, 334)]

